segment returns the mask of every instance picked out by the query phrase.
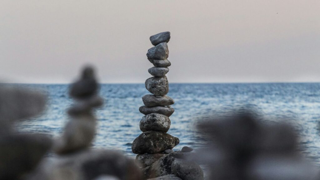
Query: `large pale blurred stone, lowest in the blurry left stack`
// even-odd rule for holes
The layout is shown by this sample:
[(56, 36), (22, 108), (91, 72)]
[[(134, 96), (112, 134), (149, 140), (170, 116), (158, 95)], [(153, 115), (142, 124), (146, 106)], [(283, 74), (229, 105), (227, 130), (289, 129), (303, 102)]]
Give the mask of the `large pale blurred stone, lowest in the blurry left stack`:
[(73, 117), (68, 121), (62, 137), (56, 141), (55, 153), (72, 153), (91, 146), (96, 134), (96, 121), (90, 114)]

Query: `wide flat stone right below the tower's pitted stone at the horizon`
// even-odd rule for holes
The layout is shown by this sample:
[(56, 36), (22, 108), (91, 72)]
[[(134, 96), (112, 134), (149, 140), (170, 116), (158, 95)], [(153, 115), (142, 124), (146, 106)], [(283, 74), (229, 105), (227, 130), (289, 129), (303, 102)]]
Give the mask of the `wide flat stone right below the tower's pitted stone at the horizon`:
[(143, 104), (148, 107), (168, 106), (168, 105), (174, 104), (174, 100), (166, 95), (157, 98), (152, 94), (147, 94), (142, 96), (142, 101), (143, 101)]

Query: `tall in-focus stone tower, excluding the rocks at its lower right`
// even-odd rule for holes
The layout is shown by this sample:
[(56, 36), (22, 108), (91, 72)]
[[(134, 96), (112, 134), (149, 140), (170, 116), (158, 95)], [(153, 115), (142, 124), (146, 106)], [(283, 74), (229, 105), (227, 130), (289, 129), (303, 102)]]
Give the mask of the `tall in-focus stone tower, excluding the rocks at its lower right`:
[(166, 94), (169, 91), (167, 74), (170, 61), (167, 59), (169, 50), (167, 43), (170, 40), (170, 32), (162, 32), (150, 37), (154, 47), (147, 53), (148, 60), (154, 65), (148, 72), (154, 77), (145, 82), (146, 89), (152, 94), (142, 97), (145, 106), (139, 111), (145, 116), (140, 121), (142, 134), (132, 143), (132, 152), (143, 167), (150, 166), (157, 159), (172, 152), (172, 148), (179, 144), (179, 139), (167, 134), (171, 121), (169, 117), (174, 112), (170, 107), (173, 99)]

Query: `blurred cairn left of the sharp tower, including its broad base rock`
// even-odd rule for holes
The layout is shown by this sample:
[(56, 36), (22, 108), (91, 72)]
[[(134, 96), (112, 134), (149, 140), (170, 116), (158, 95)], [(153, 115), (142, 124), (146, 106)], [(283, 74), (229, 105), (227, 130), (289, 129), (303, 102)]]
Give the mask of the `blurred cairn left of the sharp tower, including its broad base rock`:
[(85, 67), (69, 88), (75, 104), (68, 109), (70, 120), (54, 145), (57, 157), (41, 162), (28, 180), (141, 180), (134, 160), (119, 152), (91, 149), (96, 134), (94, 109), (103, 105), (92, 67)]

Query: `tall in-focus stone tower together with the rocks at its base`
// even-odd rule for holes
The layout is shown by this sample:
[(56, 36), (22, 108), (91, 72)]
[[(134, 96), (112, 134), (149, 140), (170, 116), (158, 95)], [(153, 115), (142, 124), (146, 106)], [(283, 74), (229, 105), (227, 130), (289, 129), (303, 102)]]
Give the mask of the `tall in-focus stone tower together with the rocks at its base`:
[(192, 155), (193, 149), (184, 147), (181, 151), (173, 151), (173, 147), (179, 144), (179, 138), (167, 134), (171, 125), (169, 117), (174, 112), (171, 107), (174, 100), (166, 96), (169, 92), (166, 74), (171, 65), (167, 59), (169, 40), (170, 32), (150, 36), (154, 47), (148, 50), (147, 57), (154, 67), (148, 72), (154, 77), (148, 78), (145, 86), (152, 94), (142, 97), (145, 105), (139, 108), (145, 114), (140, 121), (142, 134), (133, 141), (132, 152), (138, 154), (136, 161), (143, 169), (144, 179), (202, 180), (204, 175), (199, 165), (185, 160)]

